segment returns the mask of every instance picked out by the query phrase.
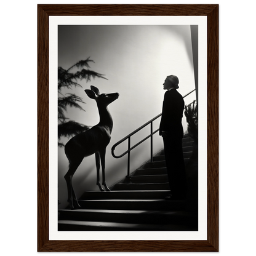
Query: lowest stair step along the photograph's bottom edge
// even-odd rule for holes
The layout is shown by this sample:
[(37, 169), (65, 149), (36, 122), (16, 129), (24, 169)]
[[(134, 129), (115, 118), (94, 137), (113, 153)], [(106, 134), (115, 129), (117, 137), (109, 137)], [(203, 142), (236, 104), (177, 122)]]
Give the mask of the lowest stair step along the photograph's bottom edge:
[(186, 225), (176, 224), (132, 224), (117, 222), (82, 222), (78, 220), (59, 220), (58, 231), (196, 231)]

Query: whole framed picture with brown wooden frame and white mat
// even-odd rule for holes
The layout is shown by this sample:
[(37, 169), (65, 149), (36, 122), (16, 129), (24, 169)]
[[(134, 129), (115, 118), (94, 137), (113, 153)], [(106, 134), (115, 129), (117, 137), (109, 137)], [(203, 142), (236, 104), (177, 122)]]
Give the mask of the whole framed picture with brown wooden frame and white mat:
[[(37, 255), (222, 254), (220, 2), (38, 2), (34, 13), (34, 252)], [(73, 67), (74, 71), (71, 71)], [(84, 67), (90, 71), (89, 75), (82, 76)], [(70, 79), (70, 84), (66, 84), (66, 88), (61, 90), (62, 71), (65, 74), (69, 72), (73, 77), (82, 76), (84, 82), (77, 78), (72, 81)], [(110, 218), (118, 216), (114, 213), (119, 211), (118, 214), (124, 214), (116, 206), (111, 208), (110, 204), (113, 202), (110, 201), (105, 202), (108, 204), (105, 207), (108, 215), (113, 214), (108, 220), (103, 219), (98, 226), (94, 226), (101, 210), (96, 206), (97, 210), (90, 213), (93, 215), (90, 217), (90, 228), (85, 228), (81, 217), (77, 221), (74, 217), (71, 225), (62, 216), (74, 215), (76, 212), (79, 214), (79, 210), (74, 209), (74, 191), (81, 199), (84, 196), (83, 190), (90, 194), (88, 191), (108, 190), (110, 186), (111, 192), (91, 193), (91, 196), (104, 195), (101, 201), (105, 201), (105, 198), (111, 198), (109, 195), (113, 194), (114, 185), (122, 178), (134, 178), (129, 172), (139, 169), (138, 166), (145, 164), (147, 158), (151, 158), (151, 164), (153, 154), (160, 155), (162, 138), (151, 134), (151, 143), (154, 141), (154, 146), (151, 144), (151, 156), (148, 157), (148, 153), (142, 148), (134, 150), (135, 153), (129, 152), (131, 159), (129, 158), (128, 169), (131, 171), (128, 170), (128, 174), (123, 170), (127, 169), (127, 163), (124, 164), (127, 160), (113, 160), (115, 143), (127, 134), (143, 124), (148, 124), (148, 127), (151, 125), (151, 132), (153, 126), (154, 129), (159, 127), (158, 121), (156, 124), (148, 121), (161, 111), (164, 97), (162, 83), (170, 74), (176, 74), (179, 78), (178, 91), (183, 95), (185, 105), (192, 106), (191, 103), (194, 102), (194, 108), (195, 103), (198, 104), (196, 200), (193, 198), (186, 204), (185, 211), (178, 212), (183, 214), (182, 217), (173, 210), (166, 210), (164, 218), (167, 219), (172, 214), (172, 218), (177, 220), (177, 223), (171, 225), (165, 225), (164, 218), (161, 225), (151, 225), (154, 220), (149, 220), (148, 226), (145, 225), (146, 220), (143, 218), (146, 218), (145, 212), (148, 214), (148, 206), (144, 209), (142, 202), (136, 201), (136, 194), (133, 195), (134, 201), (122, 202), (129, 203), (131, 208), (124, 206), (123, 209), (130, 209), (129, 214), (140, 212), (139, 219), (143, 225), (137, 220), (136, 225), (130, 228), (130, 223), (134, 223), (130, 220), (129, 224), (120, 221), (115, 227), (108, 227), (106, 223), (110, 222)], [(55, 84), (58, 84), (59, 90)], [(95, 87), (91, 87), (92, 84), (100, 92), (93, 89)], [(74, 89), (68, 90), (71, 86)], [(119, 95), (109, 107), (114, 127), (105, 156), (108, 186), (105, 182), (104, 186), (96, 183), (93, 156), (93, 159), (84, 160), (87, 161), (84, 166), (81, 164), (78, 167), (78, 178), (74, 175), (73, 179), (74, 190), (71, 188), (69, 191), (66, 190), (66, 185), (69, 188), (70, 183), (66, 182), (64, 176), (68, 171), (70, 158), (66, 158), (68, 154), (65, 156), (63, 147), (69, 138), (60, 138), (58, 124), (68, 123), (67, 120), (71, 119), (75, 119), (76, 124), (85, 124), (86, 126), (81, 125), (83, 129), (97, 124), (99, 118), (102, 118), (101, 110), (96, 105), (95, 98), (84, 92), (89, 89), (95, 90), (97, 95)], [(188, 99), (187, 102), (185, 98)], [(63, 99), (70, 100), (63, 107), (63, 110), (68, 110), (67, 113), (58, 111)], [(83, 105), (84, 101), (86, 105)], [(82, 114), (75, 114), (76, 118), (73, 118), (73, 110), (67, 109), (67, 106), (76, 106), (82, 110), (85, 108), (86, 112), (81, 111)], [(184, 118), (183, 128), (186, 125)], [(146, 143), (149, 145), (150, 140)], [(123, 151), (127, 150), (127, 144), (119, 147)], [(83, 170), (85, 165), (86, 174)], [(100, 178), (105, 179), (105, 175)], [(130, 180), (126, 180), (124, 188), (127, 189), (127, 184), (132, 183)], [(143, 181), (139, 183), (144, 184)], [(153, 190), (146, 185), (145, 188), (147, 191)], [(158, 190), (164, 196), (164, 190)], [(73, 201), (68, 203), (66, 199), (70, 200), (70, 194)], [(87, 194), (84, 197), (91, 199)], [(85, 201), (82, 203), (88, 206), (84, 207), (84, 212), (89, 214), (89, 205), (94, 202)], [(166, 202), (164, 198), (156, 201), (152, 201), (155, 208), (150, 209), (151, 218), (163, 217), (157, 211), (163, 205), (166, 206)], [(178, 202), (180, 201), (175, 201), (175, 204), (179, 204)], [(136, 204), (140, 204), (138, 209)], [(186, 223), (187, 215), (184, 212), (187, 211), (193, 212), (190, 219), (192, 216), (196, 222), (193, 225), (178, 224), (181, 219)], [(130, 216), (138, 217), (135, 214)], [(157, 227), (151, 230), (153, 226)]]

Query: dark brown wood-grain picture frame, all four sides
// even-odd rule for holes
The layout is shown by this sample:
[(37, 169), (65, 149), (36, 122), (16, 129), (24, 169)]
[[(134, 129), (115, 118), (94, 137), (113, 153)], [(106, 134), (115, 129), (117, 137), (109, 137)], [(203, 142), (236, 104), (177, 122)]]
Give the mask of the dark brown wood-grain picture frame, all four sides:
[[(218, 3), (38, 3), (37, 252), (218, 252)], [(207, 241), (49, 241), (49, 15), (207, 15)]]

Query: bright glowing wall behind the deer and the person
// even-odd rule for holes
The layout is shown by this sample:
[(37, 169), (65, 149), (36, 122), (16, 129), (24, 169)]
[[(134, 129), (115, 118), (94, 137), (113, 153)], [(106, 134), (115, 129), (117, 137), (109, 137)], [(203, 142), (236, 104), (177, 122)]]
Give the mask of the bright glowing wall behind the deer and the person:
[[(84, 89), (94, 85), (100, 92), (119, 92), (118, 100), (109, 105), (114, 121), (111, 142), (106, 149), (106, 182), (108, 186), (118, 182), (127, 174), (127, 156), (115, 159), (111, 147), (121, 138), (142, 126), (161, 113), (166, 76), (175, 74), (180, 80), (178, 92), (185, 95), (194, 89), (193, 56), (190, 25), (90, 25), (58, 26), (58, 66), (70, 68), (79, 60), (90, 57), (91, 69), (105, 74), (105, 79), (78, 81), (82, 88), (63, 90), (83, 98), (86, 110), (69, 108), (66, 116), (71, 120), (94, 126), (99, 121), (97, 105), (87, 97)], [(195, 92), (185, 98), (185, 104), (196, 98)], [(159, 121), (154, 124), (154, 130)], [(186, 130), (185, 117), (183, 127)], [(150, 126), (132, 138), (132, 145), (150, 132)], [(63, 138), (65, 144), (67, 138)], [(154, 135), (154, 153), (163, 148), (162, 138)], [(116, 154), (127, 150), (127, 142), (116, 148)], [(138, 146), (130, 156), (131, 172), (150, 159), (150, 139)], [(68, 170), (64, 148), (58, 148), (58, 199), (59, 208), (66, 207), (67, 190), (63, 178)], [(98, 190), (96, 185), (95, 156), (82, 161), (73, 177), (76, 194)]]

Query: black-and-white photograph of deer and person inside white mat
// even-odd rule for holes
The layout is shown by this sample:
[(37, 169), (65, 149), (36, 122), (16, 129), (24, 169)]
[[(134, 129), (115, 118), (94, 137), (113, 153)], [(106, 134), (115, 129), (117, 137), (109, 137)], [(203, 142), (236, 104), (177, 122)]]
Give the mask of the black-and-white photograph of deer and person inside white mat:
[(57, 231), (198, 232), (199, 25), (56, 33)]

